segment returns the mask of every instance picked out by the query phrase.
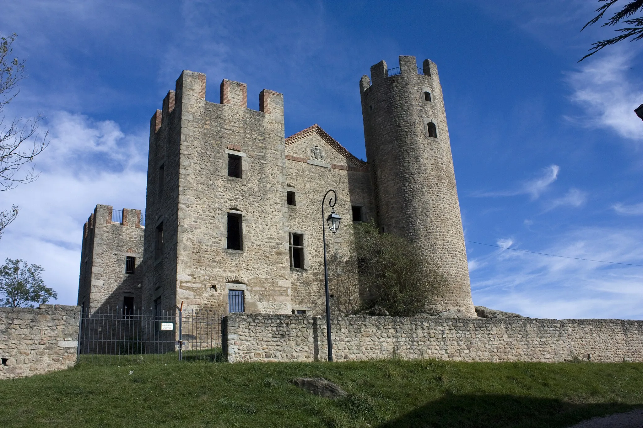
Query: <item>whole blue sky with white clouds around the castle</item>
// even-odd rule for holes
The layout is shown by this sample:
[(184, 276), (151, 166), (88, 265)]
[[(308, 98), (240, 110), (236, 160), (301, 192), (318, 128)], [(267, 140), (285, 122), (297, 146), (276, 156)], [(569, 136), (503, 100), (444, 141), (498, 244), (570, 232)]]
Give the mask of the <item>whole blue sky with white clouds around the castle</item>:
[[(527, 4), (528, 3), (528, 4)], [(466, 239), (643, 264), (642, 43), (580, 64), (595, 1), (5, 2), (28, 79), (8, 117), (46, 116), (41, 178), (0, 257), (45, 268), (75, 304), (82, 225), (96, 203), (145, 204), (149, 119), (183, 69), (283, 92), (286, 135), (318, 123), (365, 157), (358, 81), (398, 55), (435, 61)], [(477, 305), (541, 318), (643, 318), (643, 267), (467, 243)]]

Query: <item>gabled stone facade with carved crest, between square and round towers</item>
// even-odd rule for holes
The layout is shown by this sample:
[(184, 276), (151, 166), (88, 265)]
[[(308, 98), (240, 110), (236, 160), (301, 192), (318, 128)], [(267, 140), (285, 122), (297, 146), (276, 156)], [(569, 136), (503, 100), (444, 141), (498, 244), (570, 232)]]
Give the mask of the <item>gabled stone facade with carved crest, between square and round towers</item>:
[[(307, 314), (321, 315), (325, 313), (321, 198), (329, 189), (337, 192), (338, 201), (334, 210), (342, 218), (340, 230), (332, 234), (326, 229), (329, 266), (336, 266), (354, 252), (351, 206), (362, 207), (363, 220), (374, 216), (370, 176), (365, 167), (361, 168), (362, 171), (350, 171), (348, 167), (351, 165), (347, 158), (335, 151), (317, 133), (311, 133), (292, 144), (288, 144), (289, 139), (286, 142), (287, 190), (294, 191), (296, 203), (287, 206), (288, 227), (289, 232), (303, 235), (305, 246), (304, 268), (291, 269), (292, 308), (295, 311), (303, 309)], [(321, 148), (321, 153), (318, 154), (320, 160), (316, 162), (311, 157), (312, 148)], [(328, 204), (331, 197), (332, 193), (325, 202), (326, 216), (331, 213)], [(341, 291), (336, 285), (331, 269), (331, 294), (340, 298)], [(333, 303), (336, 303), (335, 300)]]

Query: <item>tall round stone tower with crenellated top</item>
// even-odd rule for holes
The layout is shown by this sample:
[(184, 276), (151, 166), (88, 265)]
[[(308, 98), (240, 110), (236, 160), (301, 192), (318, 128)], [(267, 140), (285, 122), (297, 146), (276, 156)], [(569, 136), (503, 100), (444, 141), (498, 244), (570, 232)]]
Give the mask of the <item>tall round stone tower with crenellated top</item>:
[(455, 186), (449, 130), (437, 66), (400, 56), (399, 68), (381, 61), (360, 81), (367, 160), (377, 222), (421, 252), (435, 288), (431, 314), (461, 309), (476, 316)]

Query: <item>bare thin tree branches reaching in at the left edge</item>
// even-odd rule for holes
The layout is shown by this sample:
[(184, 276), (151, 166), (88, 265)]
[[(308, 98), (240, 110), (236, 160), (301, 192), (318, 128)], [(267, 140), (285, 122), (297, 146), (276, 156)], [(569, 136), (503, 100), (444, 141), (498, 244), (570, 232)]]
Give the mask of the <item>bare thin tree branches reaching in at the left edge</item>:
[[(44, 136), (38, 133), (38, 124), (43, 119), (38, 116), (23, 123), (21, 117), (5, 121), (3, 110), (20, 92), (18, 83), (24, 75), (24, 60), (11, 58), (12, 44), (17, 36), (0, 37), (0, 191), (13, 189), (19, 183), (30, 183), (38, 178), (33, 166), (21, 171), (25, 164), (45, 150), (49, 144), (49, 132)], [(0, 211), (0, 234), (14, 221), (18, 207)]]

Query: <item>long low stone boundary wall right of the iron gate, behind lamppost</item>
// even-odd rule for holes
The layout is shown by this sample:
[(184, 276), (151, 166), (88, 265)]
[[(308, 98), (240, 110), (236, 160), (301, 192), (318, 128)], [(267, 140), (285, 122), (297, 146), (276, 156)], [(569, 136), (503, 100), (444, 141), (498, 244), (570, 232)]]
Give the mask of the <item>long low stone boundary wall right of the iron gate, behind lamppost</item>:
[[(323, 317), (230, 314), (222, 327), (230, 363), (327, 359)], [(332, 343), (335, 361), (643, 361), (643, 321), (342, 316)]]

